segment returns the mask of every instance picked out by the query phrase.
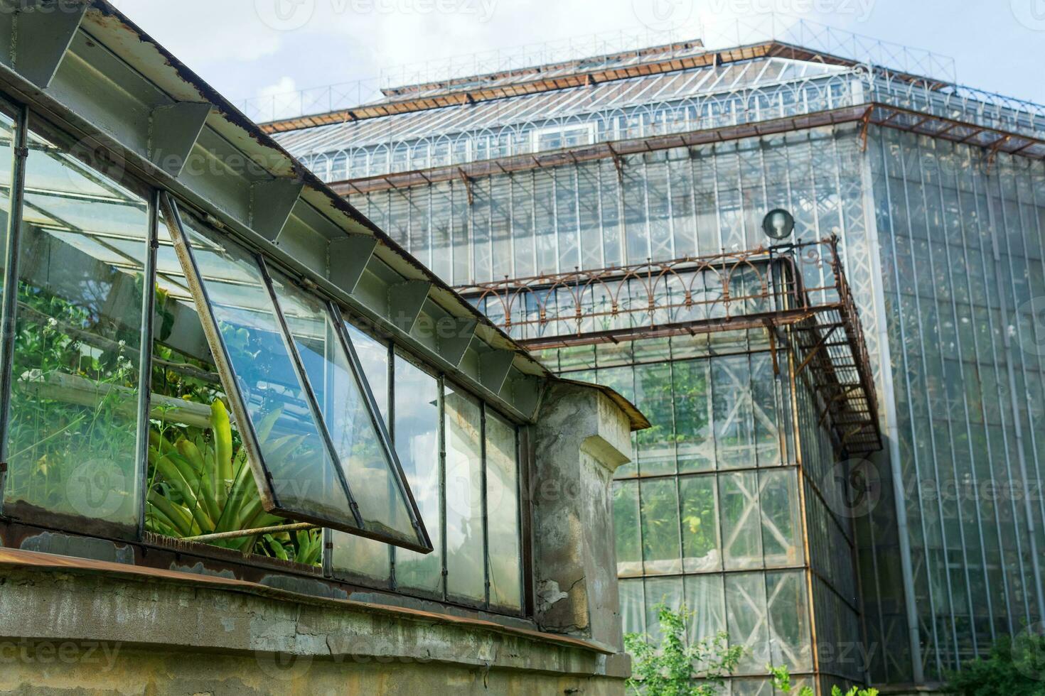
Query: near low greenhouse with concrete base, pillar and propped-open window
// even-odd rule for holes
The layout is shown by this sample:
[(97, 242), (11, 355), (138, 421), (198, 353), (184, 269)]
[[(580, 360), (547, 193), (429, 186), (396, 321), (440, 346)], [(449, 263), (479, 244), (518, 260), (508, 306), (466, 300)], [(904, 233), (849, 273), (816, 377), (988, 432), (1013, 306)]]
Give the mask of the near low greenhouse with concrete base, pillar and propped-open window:
[(643, 414), (109, 3), (0, 44), (0, 691), (623, 694)]

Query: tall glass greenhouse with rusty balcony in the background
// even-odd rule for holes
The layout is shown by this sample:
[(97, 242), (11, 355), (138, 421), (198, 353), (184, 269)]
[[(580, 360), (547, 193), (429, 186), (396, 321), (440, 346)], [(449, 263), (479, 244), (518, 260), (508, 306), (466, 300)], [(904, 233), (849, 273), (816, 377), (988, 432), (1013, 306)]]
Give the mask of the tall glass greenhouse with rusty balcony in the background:
[(830, 693), (931, 688), (1045, 619), (1045, 107), (772, 18), (582, 44), (243, 106), (646, 414), (624, 630), (684, 601), (746, 648), (733, 693), (768, 665)]

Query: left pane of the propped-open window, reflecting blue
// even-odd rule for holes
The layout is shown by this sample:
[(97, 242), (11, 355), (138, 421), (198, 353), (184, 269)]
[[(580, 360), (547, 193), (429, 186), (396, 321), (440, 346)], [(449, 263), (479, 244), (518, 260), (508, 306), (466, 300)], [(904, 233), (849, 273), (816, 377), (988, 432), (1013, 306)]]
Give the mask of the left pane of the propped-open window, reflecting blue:
[(184, 221), (280, 508), (356, 527), (257, 262), (190, 218)]

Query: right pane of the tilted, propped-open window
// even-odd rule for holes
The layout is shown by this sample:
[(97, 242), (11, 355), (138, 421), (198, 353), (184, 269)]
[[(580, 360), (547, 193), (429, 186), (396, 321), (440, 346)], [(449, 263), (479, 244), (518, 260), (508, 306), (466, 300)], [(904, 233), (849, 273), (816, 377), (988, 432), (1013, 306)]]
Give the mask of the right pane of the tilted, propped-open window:
[(365, 385), (352, 370), (333, 317), (318, 297), (280, 273), (271, 274), (364, 527), (385, 538), (423, 544), (374, 422), (377, 414), (370, 412)]

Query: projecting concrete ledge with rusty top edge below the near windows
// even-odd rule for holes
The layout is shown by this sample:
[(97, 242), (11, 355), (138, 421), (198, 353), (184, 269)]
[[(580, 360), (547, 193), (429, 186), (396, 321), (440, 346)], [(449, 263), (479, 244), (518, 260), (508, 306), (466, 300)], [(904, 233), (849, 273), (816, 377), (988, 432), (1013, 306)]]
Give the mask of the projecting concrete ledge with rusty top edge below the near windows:
[[(228, 670), (237, 665), (235, 673), (241, 677), (243, 670), (256, 672), (259, 665), (262, 671), (268, 666), (279, 672), (280, 665), (291, 662), (292, 667), (311, 665), (305, 670), (309, 679), (328, 672), (333, 678), (344, 671), (358, 671), (361, 679), (391, 683), (398, 680), (391, 672), (401, 672), (407, 679), (403, 688), (413, 683), (410, 679), (426, 679), (429, 691), (439, 687), (433, 693), (442, 693), (451, 676), (468, 682), (467, 675), (477, 670), (517, 674), (519, 682), (527, 685), (539, 673), (548, 675), (556, 689), (558, 679), (565, 677), (602, 677), (599, 680), (607, 682), (585, 693), (623, 693), (624, 689), (621, 679), (605, 676), (609, 651), (579, 639), (299, 595), (243, 580), (21, 550), (0, 549), (0, 640), (8, 646), (13, 641), (120, 646), (116, 662), (143, 673), (155, 669), (175, 674), (196, 664), (213, 664), (226, 679), (231, 678)], [(179, 663), (172, 651), (189, 653), (191, 658)], [(0, 685), (9, 687), (8, 679), (17, 681), (26, 669), (33, 671), (31, 663), (27, 667), (25, 661), (15, 662), (18, 670), (13, 672), (6, 664), (0, 670)], [(396, 665), (395, 670), (390, 672), (389, 663)], [(179, 665), (185, 668), (178, 669)], [(68, 667), (75, 671), (77, 666)], [(497, 678), (506, 679), (506, 686), (515, 679)], [(113, 682), (106, 683), (111, 687)], [(254, 689), (247, 681), (243, 688), (243, 693)], [(344, 688), (342, 683), (340, 690)], [(386, 693), (385, 688), (367, 689), (368, 693)], [(293, 689), (284, 683), (276, 691)], [(219, 689), (217, 693), (227, 692)], [(558, 689), (556, 693), (563, 692)]]

